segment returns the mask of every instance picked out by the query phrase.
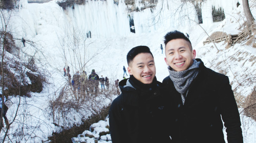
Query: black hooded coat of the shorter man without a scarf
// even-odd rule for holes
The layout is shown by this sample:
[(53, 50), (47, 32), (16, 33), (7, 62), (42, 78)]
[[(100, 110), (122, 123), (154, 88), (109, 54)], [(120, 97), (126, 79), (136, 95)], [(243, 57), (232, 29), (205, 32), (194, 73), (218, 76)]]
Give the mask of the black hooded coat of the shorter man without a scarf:
[(134, 80), (137, 79), (131, 76), (119, 82), (122, 93), (111, 104), (109, 122), (112, 142), (170, 142), (172, 111), (167, 110), (166, 103), (170, 105), (170, 99), (162, 93), (162, 83), (155, 78), (152, 87), (141, 88)]

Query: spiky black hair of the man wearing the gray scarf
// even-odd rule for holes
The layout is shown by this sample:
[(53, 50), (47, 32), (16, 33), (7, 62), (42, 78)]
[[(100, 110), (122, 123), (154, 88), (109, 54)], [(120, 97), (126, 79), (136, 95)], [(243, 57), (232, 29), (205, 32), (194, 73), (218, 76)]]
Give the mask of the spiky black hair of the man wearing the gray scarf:
[(190, 40), (188, 39), (188, 37), (186, 37), (183, 33), (179, 32), (179, 31), (171, 31), (168, 32), (165, 36), (164, 36), (164, 44), (166, 46), (166, 44), (170, 41), (170, 40), (174, 40), (174, 39), (184, 39), (186, 41), (188, 41), (191, 45), (190, 50), (192, 49), (192, 44), (190, 42)]

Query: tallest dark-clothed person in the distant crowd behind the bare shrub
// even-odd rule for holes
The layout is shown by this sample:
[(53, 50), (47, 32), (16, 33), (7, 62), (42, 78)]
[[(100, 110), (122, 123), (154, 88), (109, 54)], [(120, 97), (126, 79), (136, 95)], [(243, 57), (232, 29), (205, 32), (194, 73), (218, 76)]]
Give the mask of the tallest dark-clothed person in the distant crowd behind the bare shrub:
[(93, 92), (95, 91), (95, 94), (98, 93), (99, 90), (99, 76), (98, 74), (95, 73), (95, 70), (92, 70), (92, 73), (89, 75), (88, 77), (88, 81), (89, 81), (89, 88), (90, 91)]

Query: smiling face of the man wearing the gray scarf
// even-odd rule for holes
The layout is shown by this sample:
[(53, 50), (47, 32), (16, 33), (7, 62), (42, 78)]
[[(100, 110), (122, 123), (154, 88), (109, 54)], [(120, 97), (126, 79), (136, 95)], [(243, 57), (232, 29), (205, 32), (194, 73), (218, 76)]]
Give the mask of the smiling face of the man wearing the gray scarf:
[(184, 39), (170, 40), (165, 46), (165, 63), (175, 71), (187, 70), (196, 57), (196, 50)]

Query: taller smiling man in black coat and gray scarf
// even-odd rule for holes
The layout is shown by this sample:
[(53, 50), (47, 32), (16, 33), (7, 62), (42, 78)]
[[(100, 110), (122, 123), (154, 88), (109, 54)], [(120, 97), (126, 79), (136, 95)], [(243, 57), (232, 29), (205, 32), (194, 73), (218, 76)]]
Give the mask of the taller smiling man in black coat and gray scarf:
[(165, 35), (165, 62), (169, 76), (163, 84), (176, 102), (179, 142), (243, 142), (236, 100), (227, 76), (195, 59), (188, 37), (178, 31)]

